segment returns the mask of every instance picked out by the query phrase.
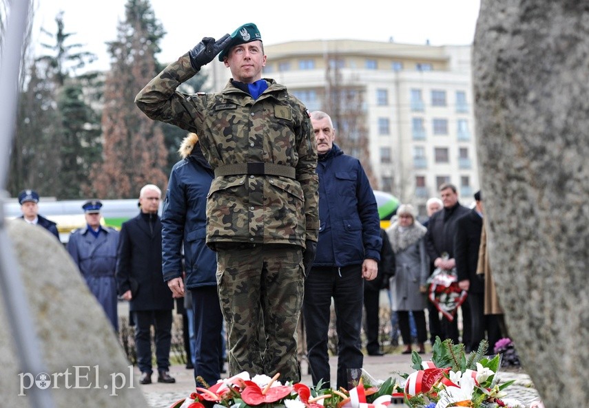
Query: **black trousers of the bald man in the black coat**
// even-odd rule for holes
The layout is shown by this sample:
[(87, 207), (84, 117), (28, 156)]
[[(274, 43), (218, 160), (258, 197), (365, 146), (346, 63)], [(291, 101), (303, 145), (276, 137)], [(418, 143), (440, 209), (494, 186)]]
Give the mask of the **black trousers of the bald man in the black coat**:
[(141, 372), (152, 374), (152, 336), (155, 329), (158, 371), (169, 369), (169, 347), (172, 344), (172, 309), (139, 310), (133, 312), (137, 365)]

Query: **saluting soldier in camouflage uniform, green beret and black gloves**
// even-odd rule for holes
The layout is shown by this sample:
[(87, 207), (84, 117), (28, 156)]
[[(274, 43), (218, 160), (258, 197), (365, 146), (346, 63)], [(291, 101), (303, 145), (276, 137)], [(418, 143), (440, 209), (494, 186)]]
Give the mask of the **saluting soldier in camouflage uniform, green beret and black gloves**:
[[(176, 91), (217, 54), (232, 76), (222, 92)], [(262, 78), (265, 65), (260, 31), (247, 23), (218, 41), (205, 37), (136, 104), (149, 118), (197, 133), (214, 170), (206, 242), (217, 251), (230, 374), (279, 372), (298, 381), (304, 266), (315, 257), (319, 228), (317, 148), (309, 112), (284, 85)], [(184, 292), (181, 279), (171, 282)]]

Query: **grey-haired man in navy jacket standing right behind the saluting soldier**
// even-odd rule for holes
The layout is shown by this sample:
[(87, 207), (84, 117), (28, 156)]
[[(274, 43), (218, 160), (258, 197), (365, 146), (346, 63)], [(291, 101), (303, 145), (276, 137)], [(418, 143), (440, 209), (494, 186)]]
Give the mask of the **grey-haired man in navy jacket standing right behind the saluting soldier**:
[(313, 385), (330, 387), (327, 352), (331, 299), (338, 332), (338, 385), (350, 389), (358, 378), (362, 354), (364, 280), (378, 275), (380, 219), (370, 182), (360, 160), (333, 143), (329, 115), (311, 113), (319, 160), (319, 239), (313, 266), (304, 283), (303, 316)]

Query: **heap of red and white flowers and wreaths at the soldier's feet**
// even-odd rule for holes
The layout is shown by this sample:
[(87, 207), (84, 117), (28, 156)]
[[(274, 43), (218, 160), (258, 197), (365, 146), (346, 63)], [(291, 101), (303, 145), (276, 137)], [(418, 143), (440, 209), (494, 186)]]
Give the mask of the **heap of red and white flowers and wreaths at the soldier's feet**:
[(358, 384), (349, 390), (324, 389), (322, 383), (316, 387), (282, 384), (280, 374), (250, 377), (242, 372), (210, 387), (197, 387), (170, 408), (525, 408), (513, 398), (504, 398), (504, 389), (513, 381), (498, 383), (501, 355), (485, 356), (487, 348), (482, 341), (477, 352), (466, 355), (463, 344), (437, 337), (431, 361), (422, 361), (413, 352), (416, 371), (402, 374), (403, 380), (377, 381), (362, 370)]

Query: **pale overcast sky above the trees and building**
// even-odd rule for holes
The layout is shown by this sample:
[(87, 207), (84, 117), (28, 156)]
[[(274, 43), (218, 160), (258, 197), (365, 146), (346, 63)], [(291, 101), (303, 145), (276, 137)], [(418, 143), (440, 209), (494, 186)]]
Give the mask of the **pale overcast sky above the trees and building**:
[[(65, 32), (99, 56), (91, 69), (108, 69), (106, 41), (116, 39), (125, 0), (35, 0), (35, 27), (56, 31), (63, 10)], [(431, 45), (473, 42), (479, 0), (152, 0), (167, 32), (158, 59), (173, 61), (203, 38), (219, 38), (243, 23), (256, 23), (266, 44), (296, 40), (359, 39)], [(271, 58), (271, 56), (269, 56)]]

